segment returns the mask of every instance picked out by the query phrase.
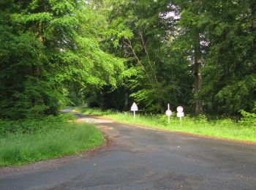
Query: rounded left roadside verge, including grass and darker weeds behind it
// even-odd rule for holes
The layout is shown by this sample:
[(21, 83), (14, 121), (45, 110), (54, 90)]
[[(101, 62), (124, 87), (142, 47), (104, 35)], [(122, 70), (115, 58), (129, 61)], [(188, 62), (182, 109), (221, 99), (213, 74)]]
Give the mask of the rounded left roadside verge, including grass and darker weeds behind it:
[(72, 155), (105, 142), (93, 124), (75, 123), (67, 115), (0, 126), (0, 167)]

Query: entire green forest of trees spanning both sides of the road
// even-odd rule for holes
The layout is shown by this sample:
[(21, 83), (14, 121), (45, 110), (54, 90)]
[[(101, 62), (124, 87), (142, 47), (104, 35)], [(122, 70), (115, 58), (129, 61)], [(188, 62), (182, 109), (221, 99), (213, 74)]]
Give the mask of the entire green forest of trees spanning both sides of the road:
[(256, 1), (0, 1), (1, 119), (132, 102), (256, 117)]

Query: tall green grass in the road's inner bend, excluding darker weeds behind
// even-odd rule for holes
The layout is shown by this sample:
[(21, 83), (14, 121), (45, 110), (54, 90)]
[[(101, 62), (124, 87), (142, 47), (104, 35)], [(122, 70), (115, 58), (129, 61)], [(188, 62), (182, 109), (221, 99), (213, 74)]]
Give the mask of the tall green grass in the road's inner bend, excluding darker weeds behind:
[(56, 128), (45, 127), (33, 133), (16, 132), (2, 135), (0, 166), (26, 164), (71, 155), (105, 142), (102, 133), (93, 124), (60, 122), (59, 125)]

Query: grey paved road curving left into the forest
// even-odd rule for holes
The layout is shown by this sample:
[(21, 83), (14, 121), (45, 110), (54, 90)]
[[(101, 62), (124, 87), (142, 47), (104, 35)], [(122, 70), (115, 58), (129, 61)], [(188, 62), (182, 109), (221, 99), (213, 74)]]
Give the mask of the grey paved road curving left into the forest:
[(256, 189), (256, 145), (79, 116), (98, 123), (108, 145), (1, 168), (0, 189)]

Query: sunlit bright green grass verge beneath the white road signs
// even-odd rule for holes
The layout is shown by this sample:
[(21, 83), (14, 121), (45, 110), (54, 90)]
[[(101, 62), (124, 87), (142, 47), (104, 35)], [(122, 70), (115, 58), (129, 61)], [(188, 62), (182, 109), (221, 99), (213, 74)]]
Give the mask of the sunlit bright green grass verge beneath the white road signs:
[(88, 107), (78, 108), (77, 111), (89, 115), (107, 116), (121, 123), (132, 123), (149, 126), (156, 129), (165, 129), (173, 132), (187, 132), (209, 137), (225, 138), (227, 140), (243, 140), (256, 142), (256, 119), (243, 118), (238, 123), (230, 119), (208, 121), (203, 115), (193, 118), (186, 116), (180, 123), (176, 113), (170, 118), (170, 126), (167, 126), (166, 115), (136, 115), (132, 113), (118, 113), (111, 110), (92, 109)]

